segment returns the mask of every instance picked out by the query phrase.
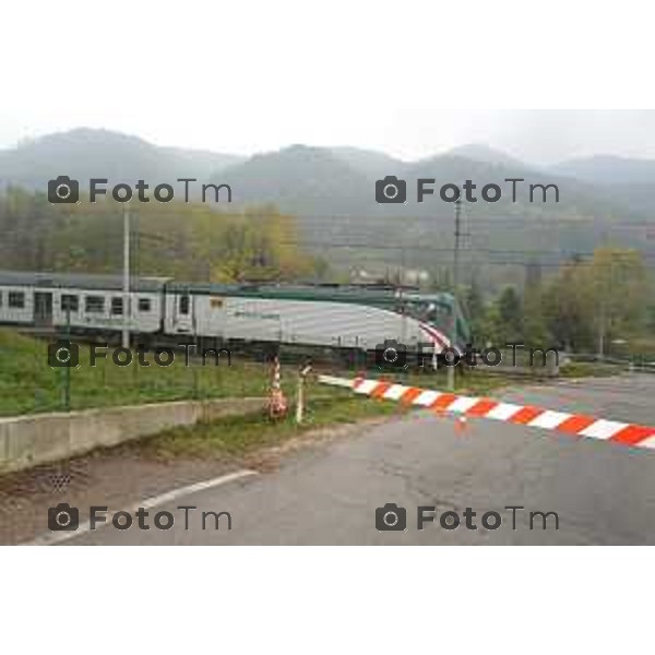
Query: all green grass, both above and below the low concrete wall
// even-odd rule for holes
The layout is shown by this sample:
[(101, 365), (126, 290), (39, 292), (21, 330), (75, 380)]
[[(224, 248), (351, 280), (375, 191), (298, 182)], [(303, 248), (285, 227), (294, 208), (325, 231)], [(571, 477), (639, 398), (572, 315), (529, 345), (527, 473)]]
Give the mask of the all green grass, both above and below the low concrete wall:
[[(45, 341), (20, 336), (0, 330), (0, 415), (63, 410), (64, 369), (52, 369), (47, 361)], [(198, 397), (265, 396), (271, 382), (271, 366), (233, 358), (233, 366), (200, 365), (186, 367), (183, 357), (167, 368), (116, 366), (111, 358), (88, 365), (88, 347), (80, 346), (81, 366), (70, 370), (71, 408), (103, 407), (155, 403)], [(310, 378), (307, 384), (306, 420), (296, 425), (293, 401), (296, 384), (295, 365), (283, 366), (283, 390), (290, 403), (288, 416), (271, 420), (259, 412), (247, 416), (226, 417), (213, 422), (176, 428), (130, 444), (146, 456), (211, 457), (238, 460), (259, 449), (281, 444), (309, 430), (354, 424), (365, 418), (402, 415), (406, 407), (395, 402), (355, 396), (352, 392), (319, 384)], [(293, 372), (291, 372), (293, 371)], [(353, 372), (342, 373), (354, 377)], [(425, 389), (445, 389), (445, 371), (382, 374), (369, 371), (370, 378), (384, 379)], [(499, 376), (476, 371), (458, 372), (458, 393), (491, 394), (508, 385)]]

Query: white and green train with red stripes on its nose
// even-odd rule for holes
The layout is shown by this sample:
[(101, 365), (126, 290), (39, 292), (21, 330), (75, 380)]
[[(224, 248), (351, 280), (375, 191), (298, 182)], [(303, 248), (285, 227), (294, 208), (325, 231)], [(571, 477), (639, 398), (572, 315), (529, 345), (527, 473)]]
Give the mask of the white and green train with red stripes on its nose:
[(204, 284), (169, 277), (0, 271), (0, 323), (48, 333), (139, 343), (203, 340), (211, 347), (260, 346), (370, 353), (397, 342), (441, 353), (468, 341), (453, 296), (408, 287), (337, 284)]

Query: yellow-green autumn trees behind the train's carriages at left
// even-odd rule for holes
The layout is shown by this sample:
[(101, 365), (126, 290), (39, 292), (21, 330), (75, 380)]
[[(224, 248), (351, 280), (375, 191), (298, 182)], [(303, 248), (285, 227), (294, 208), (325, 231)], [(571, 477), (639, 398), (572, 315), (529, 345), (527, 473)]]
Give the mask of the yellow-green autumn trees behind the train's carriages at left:
[[(117, 273), (124, 205), (51, 205), (43, 193), (0, 195), (0, 267)], [(189, 281), (311, 277), (317, 260), (298, 246), (295, 221), (272, 209), (219, 213), (202, 204), (130, 206), (133, 270)]]

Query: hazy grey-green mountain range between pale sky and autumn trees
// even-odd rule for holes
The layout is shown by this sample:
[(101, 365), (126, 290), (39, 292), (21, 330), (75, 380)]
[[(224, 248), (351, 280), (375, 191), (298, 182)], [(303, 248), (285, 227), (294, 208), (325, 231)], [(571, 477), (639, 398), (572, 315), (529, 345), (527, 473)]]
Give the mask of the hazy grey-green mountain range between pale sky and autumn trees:
[[(469, 235), (465, 246), (488, 251), (486, 261), (496, 258), (499, 264), (511, 263), (514, 255), (507, 253), (517, 251), (522, 264), (526, 259), (545, 261), (545, 255), (539, 257), (544, 252), (561, 261), (608, 241), (655, 254), (655, 245), (647, 242), (640, 227), (644, 223), (655, 227), (651, 193), (655, 160), (647, 159), (600, 155), (538, 168), (484, 144), (463, 145), (417, 162), (357, 147), (309, 145), (245, 157), (162, 147), (135, 136), (91, 129), (56, 133), (0, 151), (0, 189), (17, 184), (45, 191), (47, 181), (59, 175), (78, 178), (81, 183), (90, 177), (132, 184), (138, 179), (155, 184), (180, 177), (229, 183), (233, 206), (274, 204), (295, 214), (308, 247), (330, 252), (331, 260), (356, 265), (364, 260), (389, 263), (408, 259), (420, 266), (450, 261), (453, 205), (434, 198), (422, 204), (414, 199), (406, 204), (378, 204), (376, 180), (386, 176), (434, 178), (438, 188), (472, 179), (479, 196), (484, 184), (502, 187), (505, 178), (523, 178), (526, 184), (557, 183), (560, 202), (531, 203), (523, 187), (519, 202), (513, 203), (504, 184), (500, 202), (465, 203)], [(502, 252), (505, 254), (499, 254)]]

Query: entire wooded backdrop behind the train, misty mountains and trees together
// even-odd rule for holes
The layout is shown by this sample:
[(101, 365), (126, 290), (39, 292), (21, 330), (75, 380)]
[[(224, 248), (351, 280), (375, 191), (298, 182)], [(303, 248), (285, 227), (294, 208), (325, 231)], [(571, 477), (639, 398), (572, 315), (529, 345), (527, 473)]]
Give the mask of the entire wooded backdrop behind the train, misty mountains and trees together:
[[(124, 205), (90, 204), (85, 180), (229, 183), (229, 204), (131, 202), (132, 269), (189, 281), (420, 281), (452, 289), (454, 206), (376, 202), (376, 180), (412, 186), (505, 178), (557, 183), (560, 202), (465, 202), (458, 291), (478, 340), (510, 332), (576, 349), (646, 344), (655, 325), (655, 206), (648, 160), (595, 157), (536, 169), (484, 145), (418, 162), (294, 145), (252, 157), (162, 148), (73, 130), (0, 152), (0, 267), (117, 273)], [(79, 178), (80, 204), (51, 205), (49, 178)], [(653, 180), (655, 181), (655, 180)], [(409, 273), (416, 273), (409, 278)], [(420, 275), (418, 275), (420, 274)], [(600, 344), (603, 342), (603, 345)]]

